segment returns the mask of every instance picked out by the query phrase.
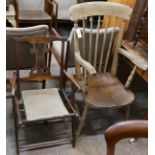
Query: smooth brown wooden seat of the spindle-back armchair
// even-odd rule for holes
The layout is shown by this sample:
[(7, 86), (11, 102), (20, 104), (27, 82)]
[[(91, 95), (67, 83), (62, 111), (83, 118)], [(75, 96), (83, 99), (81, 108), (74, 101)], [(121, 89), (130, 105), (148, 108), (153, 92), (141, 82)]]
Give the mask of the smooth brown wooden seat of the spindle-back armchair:
[(86, 101), (93, 107), (121, 107), (133, 100), (134, 94), (111, 74), (97, 74), (89, 78)]

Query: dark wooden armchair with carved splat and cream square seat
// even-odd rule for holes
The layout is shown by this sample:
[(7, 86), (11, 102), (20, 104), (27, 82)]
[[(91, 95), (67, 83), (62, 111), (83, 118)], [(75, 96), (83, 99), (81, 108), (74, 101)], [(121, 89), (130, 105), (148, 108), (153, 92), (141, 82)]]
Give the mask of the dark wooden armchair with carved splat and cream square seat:
[[(56, 31), (55, 31), (56, 32)], [(37, 149), (42, 147), (47, 147), (51, 145), (63, 144), (72, 142), (74, 146), (74, 123), (76, 112), (69, 102), (65, 91), (60, 87), (58, 88), (48, 88), (48, 89), (34, 89), (34, 90), (20, 90), (20, 71), (21, 64), (23, 61), (23, 52), (27, 47), (26, 52), (31, 55), (31, 59), (27, 59), (27, 64), (29, 65), (30, 71), (28, 76), (24, 77), (23, 80), (26, 81), (45, 81), (53, 79), (50, 72), (50, 62), (52, 53), (52, 43), (54, 41), (62, 42), (61, 57), (64, 53), (64, 42), (66, 38), (59, 37), (56, 35), (31, 35), (23, 36), (20, 38), (14, 38), (16, 40), (16, 73), (10, 79), (10, 83), (13, 88), (13, 112), (15, 118), (15, 136), (16, 136), (16, 146), (17, 154), (20, 151)], [(30, 61), (31, 60), (31, 61)], [(63, 68), (63, 59), (61, 58), (61, 70)], [(30, 62), (31, 63), (30, 63)], [(31, 66), (31, 67), (30, 67)], [(60, 83), (61, 78), (59, 78)], [(52, 139), (48, 137), (43, 141), (35, 141), (30, 144), (20, 141), (20, 131), (21, 129), (34, 128), (36, 126), (47, 127), (50, 123), (63, 123), (70, 122), (72, 133), (68, 136), (57, 137), (57, 139)], [(28, 130), (29, 131), (29, 130)], [(39, 130), (37, 132), (40, 132)], [(46, 131), (47, 132), (47, 131)], [(25, 137), (26, 139), (28, 137)], [(34, 137), (29, 137), (32, 140)], [(27, 139), (29, 141), (29, 139)]]

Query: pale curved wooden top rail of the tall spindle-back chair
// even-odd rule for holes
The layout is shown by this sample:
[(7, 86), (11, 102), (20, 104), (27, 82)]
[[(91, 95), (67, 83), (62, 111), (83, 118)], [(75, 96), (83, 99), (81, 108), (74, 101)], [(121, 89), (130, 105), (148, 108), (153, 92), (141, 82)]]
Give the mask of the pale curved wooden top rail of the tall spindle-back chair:
[(69, 9), (69, 13), (73, 21), (94, 15), (116, 16), (129, 19), (132, 9), (129, 6), (112, 2), (87, 2), (72, 6)]

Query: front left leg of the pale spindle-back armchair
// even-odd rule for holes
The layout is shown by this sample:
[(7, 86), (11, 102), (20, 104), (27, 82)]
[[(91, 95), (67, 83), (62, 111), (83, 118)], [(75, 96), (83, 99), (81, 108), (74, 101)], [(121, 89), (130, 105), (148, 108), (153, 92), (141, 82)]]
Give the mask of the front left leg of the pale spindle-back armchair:
[(84, 126), (87, 113), (88, 113), (88, 104), (86, 103), (86, 105), (84, 107), (84, 110), (83, 110), (83, 113), (82, 113), (82, 117), (81, 117), (79, 126), (78, 126), (78, 129), (77, 129), (77, 131), (75, 133), (76, 134), (75, 142), (77, 141), (77, 139), (78, 139), (78, 137), (79, 137), (79, 135), (81, 133), (81, 130), (82, 130), (83, 126)]

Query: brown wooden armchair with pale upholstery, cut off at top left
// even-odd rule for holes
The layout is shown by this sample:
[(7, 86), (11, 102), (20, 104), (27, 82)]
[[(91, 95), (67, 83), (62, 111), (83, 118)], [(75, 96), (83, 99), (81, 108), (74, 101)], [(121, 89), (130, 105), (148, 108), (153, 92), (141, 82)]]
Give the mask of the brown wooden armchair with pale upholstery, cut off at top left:
[[(42, 0), (37, 1), (37, 3), (42, 3)], [(55, 0), (44, 0), (44, 4), (40, 8), (36, 8), (33, 1), (13, 0), (13, 4), (15, 6), (18, 27), (24, 23), (47, 24), (49, 30), (52, 27), (57, 28), (58, 4)]]

